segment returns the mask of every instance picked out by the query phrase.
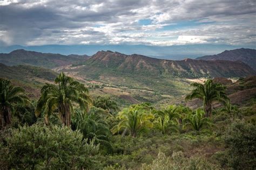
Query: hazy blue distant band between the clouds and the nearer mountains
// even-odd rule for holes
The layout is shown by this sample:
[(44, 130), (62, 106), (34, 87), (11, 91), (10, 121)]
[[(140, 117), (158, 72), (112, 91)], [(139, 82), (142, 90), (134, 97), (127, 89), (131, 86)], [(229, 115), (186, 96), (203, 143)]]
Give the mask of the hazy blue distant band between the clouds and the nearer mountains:
[[(69, 54), (87, 54), (93, 55), (98, 51), (117, 51), (124, 54), (142, 54), (159, 59), (181, 60), (185, 58), (197, 58), (203, 55), (213, 55), (244, 46), (232, 45), (177, 45), (177, 46), (146, 46), (146, 45), (43, 45), (43, 46), (8, 46), (1, 47), (0, 53), (9, 53), (15, 49), (25, 49), (28, 51), (37, 51), (42, 53)], [(246, 48), (255, 48), (255, 46), (246, 46)]]

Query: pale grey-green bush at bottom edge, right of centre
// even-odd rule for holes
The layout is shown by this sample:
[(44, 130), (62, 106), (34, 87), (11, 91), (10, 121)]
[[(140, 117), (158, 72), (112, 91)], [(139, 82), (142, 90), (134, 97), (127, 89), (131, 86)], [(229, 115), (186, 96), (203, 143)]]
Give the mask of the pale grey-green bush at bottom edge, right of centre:
[(166, 157), (162, 152), (158, 153), (157, 159), (152, 164), (142, 165), (144, 170), (154, 169), (220, 169), (217, 165), (207, 162), (200, 157), (185, 158), (182, 152), (174, 152), (172, 157)]

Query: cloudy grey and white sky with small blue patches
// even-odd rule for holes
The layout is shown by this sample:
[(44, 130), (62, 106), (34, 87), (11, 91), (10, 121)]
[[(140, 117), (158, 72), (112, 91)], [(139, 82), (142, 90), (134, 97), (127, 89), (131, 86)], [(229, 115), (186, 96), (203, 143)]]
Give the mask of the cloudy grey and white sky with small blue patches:
[(0, 0), (0, 46), (255, 45), (255, 0)]

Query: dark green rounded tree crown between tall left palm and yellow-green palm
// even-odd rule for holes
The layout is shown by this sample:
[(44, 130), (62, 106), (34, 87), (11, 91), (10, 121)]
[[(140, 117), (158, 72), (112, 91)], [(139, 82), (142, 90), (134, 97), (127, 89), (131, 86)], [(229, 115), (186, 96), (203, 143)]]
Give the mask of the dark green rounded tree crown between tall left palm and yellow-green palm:
[(98, 96), (93, 101), (93, 105), (97, 108), (102, 108), (109, 111), (110, 114), (113, 114), (114, 111), (118, 110), (117, 103), (111, 100), (110, 97)]

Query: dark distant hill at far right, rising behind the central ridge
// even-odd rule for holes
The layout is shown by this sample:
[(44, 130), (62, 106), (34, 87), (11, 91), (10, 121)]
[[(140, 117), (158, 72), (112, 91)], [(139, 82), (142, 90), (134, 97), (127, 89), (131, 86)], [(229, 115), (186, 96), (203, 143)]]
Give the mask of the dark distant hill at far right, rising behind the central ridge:
[(224, 51), (216, 55), (205, 55), (197, 58), (197, 60), (230, 60), (242, 61), (248, 66), (256, 70), (256, 50), (248, 48), (233, 49)]

